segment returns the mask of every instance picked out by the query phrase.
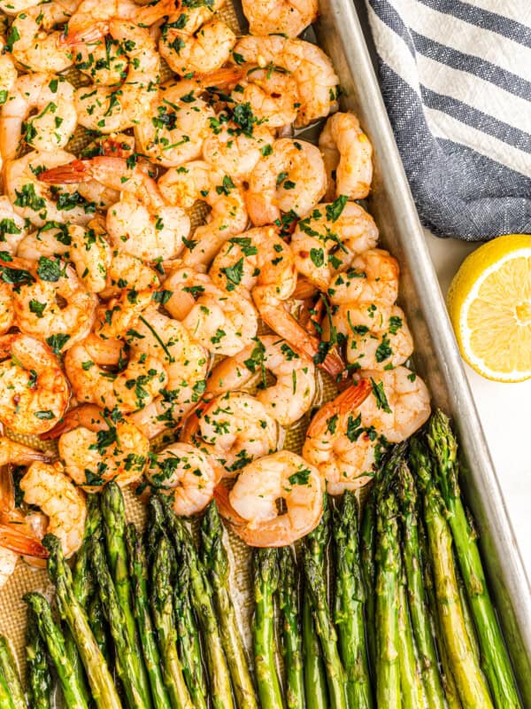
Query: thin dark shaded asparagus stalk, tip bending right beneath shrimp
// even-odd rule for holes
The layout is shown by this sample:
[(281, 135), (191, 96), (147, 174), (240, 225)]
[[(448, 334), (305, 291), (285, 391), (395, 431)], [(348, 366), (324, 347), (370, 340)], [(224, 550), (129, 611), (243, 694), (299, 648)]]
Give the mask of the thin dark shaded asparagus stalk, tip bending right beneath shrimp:
[(371, 490), (366, 500), (360, 528), (360, 556), (363, 580), (366, 588), (366, 633), (370, 666), (373, 674), (376, 667), (376, 594), (373, 592), (376, 580), (376, 517), (378, 500), (381, 496), (382, 481), (389, 478), (397, 464), (404, 458), (406, 443), (398, 444), (389, 451), (389, 455), (378, 468), (373, 478)]

